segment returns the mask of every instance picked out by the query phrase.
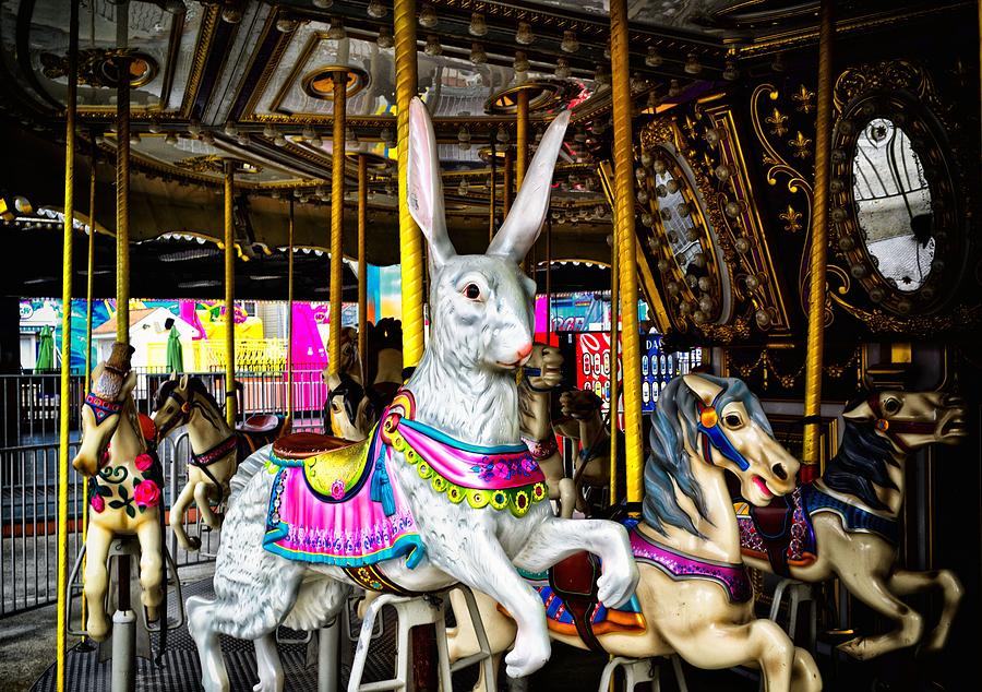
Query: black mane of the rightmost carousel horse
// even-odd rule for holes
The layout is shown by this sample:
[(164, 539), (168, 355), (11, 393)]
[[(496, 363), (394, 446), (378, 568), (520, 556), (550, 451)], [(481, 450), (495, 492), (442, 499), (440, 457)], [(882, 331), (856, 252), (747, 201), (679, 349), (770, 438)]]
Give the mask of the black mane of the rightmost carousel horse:
[[(850, 411), (866, 397), (846, 405)], [(873, 510), (887, 510), (887, 505), (876, 497), (876, 486), (896, 489), (890, 480), (887, 464), (896, 464), (890, 441), (876, 432), (870, 420), (846, 419), (842, 444), (838, 453), (828, 462), (822, 481), (839, 492), (855, 496)]]

